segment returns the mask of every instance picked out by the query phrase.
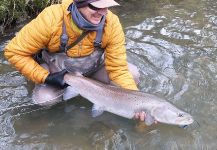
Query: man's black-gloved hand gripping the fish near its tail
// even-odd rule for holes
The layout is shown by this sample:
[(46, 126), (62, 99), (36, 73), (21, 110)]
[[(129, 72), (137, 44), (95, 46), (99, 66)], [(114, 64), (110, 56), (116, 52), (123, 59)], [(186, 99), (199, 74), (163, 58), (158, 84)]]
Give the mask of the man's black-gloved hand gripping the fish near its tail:
[(67, 70), (65, 69), (60, 72), (51, 73), (45, 79), (45, 83), (59, 88), (65, 88), (67, 86), (66, 82), (64, 81), (64, 75), (66, 73)]

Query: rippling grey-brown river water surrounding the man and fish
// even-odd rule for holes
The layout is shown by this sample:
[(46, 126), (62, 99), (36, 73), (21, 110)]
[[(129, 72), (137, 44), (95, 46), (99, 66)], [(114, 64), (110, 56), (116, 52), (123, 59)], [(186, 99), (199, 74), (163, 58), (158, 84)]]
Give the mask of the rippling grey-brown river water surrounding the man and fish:
[(3, 57), (0, 40), (0, 149), (216, 150), (217, 2), (120, 0), (128, 59), (141, 71), (141, 91), (165, 97), (193, 115), (186, 129), (110, 113), (92, 118), (78, 97), (52, 108), (31, 102), (33, 83)]

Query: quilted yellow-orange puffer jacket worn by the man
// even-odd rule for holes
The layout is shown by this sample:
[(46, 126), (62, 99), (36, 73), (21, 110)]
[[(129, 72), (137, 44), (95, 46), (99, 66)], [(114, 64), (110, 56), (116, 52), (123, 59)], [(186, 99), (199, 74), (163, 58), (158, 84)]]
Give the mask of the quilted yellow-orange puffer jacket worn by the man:
[[(63, 20), (69, 37), (68, 44), (74, 42), (80, 32), (73, 30), (71, 14), (67, 10), (73, 0), (63, 0), (45, 8), (37, 18), (24, 26), (5, 47), (4, 54), (24, 76), (33, 82), (44, 83), (49, 72), (42, 68), (33, 55), (42, 48), (50, 52), (59, 51)], [(69, 57), (87, 56), (93, 52), (96, 32), (90, 32), (76, 46), (69, 49)], [(105, 49), (105, 67), (109, 78), (117, 85), (137, 90), (132, 75), (128, 71), (124, 33), (119, 19), (108, 11), (102, 37), (102, 48)]]

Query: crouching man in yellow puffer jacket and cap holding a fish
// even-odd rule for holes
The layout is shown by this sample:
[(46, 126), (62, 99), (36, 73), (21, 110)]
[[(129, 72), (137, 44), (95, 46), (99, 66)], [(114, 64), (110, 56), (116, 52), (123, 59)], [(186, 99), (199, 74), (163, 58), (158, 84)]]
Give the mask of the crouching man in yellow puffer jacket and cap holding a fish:
[[(75, 68), (87, 77), (138, 90), (132, 76), (138, 79), (138, 70), (131, 64), (128, 69), (121, 24), (108, 10), (118, 5), (114, 0), (63, 0), (62, 4), (52, 5), (10, 41), (4, 50), (5, 57), (36, 84), (66, 87), (63, 80), (66, 67), (63, 65), (58, 72), (52, 72), (49, 61), (45, 60), (46, 56), (55, 57), (60, 53), (71, 65), (81, 62), (80, 68)], [(45, 66), (33, 58), (36, 54)], [(79, 58), (82, 61), (77, 61)], [(83, 69), (90, 58), (94, 58), (91, 67)], [(131, 74), (129, 70), (134, 71)], [(144, 116), (144, 113), (136, 114), (140, 120), (144, 120)]]

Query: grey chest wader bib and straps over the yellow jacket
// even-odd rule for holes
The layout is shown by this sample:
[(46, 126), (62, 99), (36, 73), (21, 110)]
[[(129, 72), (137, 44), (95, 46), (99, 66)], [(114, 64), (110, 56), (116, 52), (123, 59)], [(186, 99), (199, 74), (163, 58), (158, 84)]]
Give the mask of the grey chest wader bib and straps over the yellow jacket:
[(42, 51), (42, 60), (49, 65), (49, 62), (55, 64), (58, 71), (66, 69), (69, 72), (79, 72), (88, 77), (98, 71), (104, 65), (104, 49), (101, 48), (103, 28), (97, 31), (94, 41), (94, 51), (84, 57), (68, 57), (67, 51), (78, 44), (90, 31), (84, 31), (72, 44), (67, 45), (68, 35), (66, 33), (65, 23), (62, 27), (62, 35), (60, 37), (60, 52), (49, 53), (47, 50)]

